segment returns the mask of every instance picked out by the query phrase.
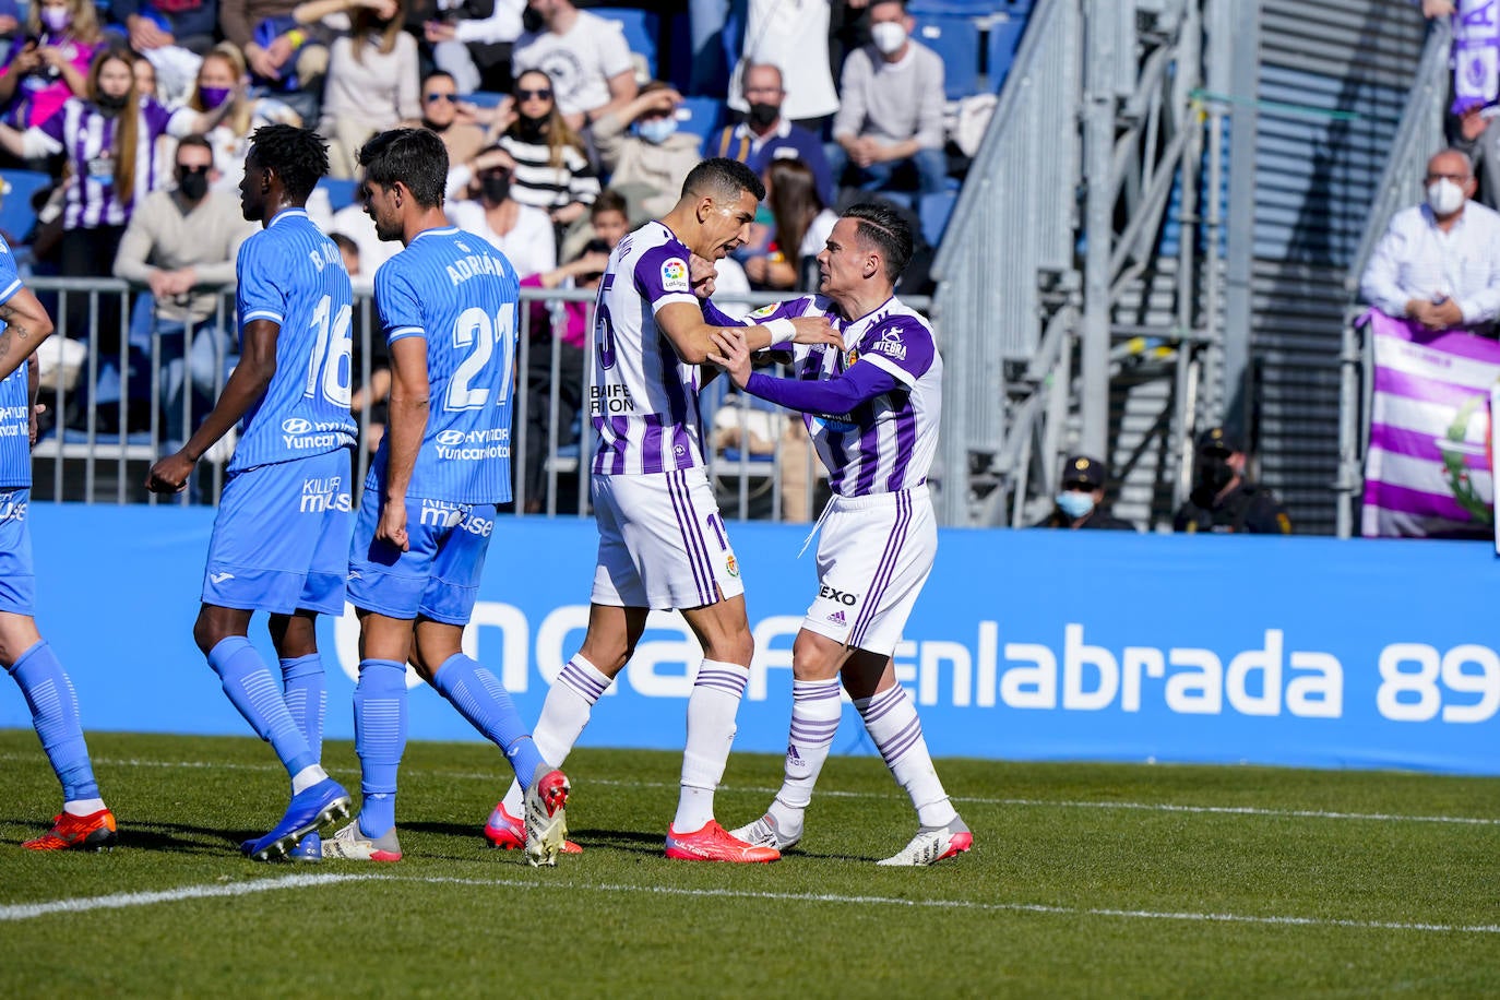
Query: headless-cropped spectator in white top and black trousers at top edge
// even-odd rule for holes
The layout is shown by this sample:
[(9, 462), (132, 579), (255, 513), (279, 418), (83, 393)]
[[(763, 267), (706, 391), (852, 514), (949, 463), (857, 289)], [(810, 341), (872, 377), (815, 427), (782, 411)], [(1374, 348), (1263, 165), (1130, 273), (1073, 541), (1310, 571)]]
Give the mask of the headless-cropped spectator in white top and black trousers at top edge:
[(525, 9), (526, 0), (416, 0), (406, 30), (428, 42), (432, 63), (453, 75), (459, 93), (508, 93), (510, 54)]

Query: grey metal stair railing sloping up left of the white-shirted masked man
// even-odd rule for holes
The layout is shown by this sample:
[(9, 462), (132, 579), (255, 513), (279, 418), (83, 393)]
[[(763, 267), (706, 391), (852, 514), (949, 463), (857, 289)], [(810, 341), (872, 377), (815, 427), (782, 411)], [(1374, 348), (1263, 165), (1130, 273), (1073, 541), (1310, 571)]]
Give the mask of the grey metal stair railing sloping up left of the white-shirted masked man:
[(1412, 94), (1401, 112), (1396, 138), (1390, 144), (1390, 157), (1380, 175), (1359, 250), (1344, 279), (1348, 306), (1340, 349), (1338, 478), (1334, 481), (1334, 490), (1338, 493), (1335, 529), (1340, 538), (1352, 537), (1359, 520), (1360, 492), (1365, 484), (1365, 447), (1370, 436), (1372, 358), (1362, 328), (1356, 327), (1356, 319), (1365, 312), (1359, 304), (1359, 279), (1376, 252), (1376, 244), (1390, 225), (1390, 217), (1422, 199), (1426, 160), (1443, 147), (1443, 105), (1448, 102), (1449, 90), (1452, 25), (1448, 18), (1436, 18), (1430, 25)]

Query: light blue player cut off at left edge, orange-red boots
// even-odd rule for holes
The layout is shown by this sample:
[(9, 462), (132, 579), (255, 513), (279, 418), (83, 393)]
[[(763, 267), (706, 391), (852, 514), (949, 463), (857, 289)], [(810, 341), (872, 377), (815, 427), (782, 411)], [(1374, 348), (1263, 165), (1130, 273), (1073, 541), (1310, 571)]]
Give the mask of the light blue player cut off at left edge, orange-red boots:
[(0, 666), (32, 709), (42, 750), (63, 784), (63, 811), (28, 850), (99, 850), (116, 841), (114, 814), (99, 798), (74, 682), (36, 630), (32, 567), (32, 445), (36, 444), (36, 348), (52, 321), (21, 286), (10, 247), (0, 240)]

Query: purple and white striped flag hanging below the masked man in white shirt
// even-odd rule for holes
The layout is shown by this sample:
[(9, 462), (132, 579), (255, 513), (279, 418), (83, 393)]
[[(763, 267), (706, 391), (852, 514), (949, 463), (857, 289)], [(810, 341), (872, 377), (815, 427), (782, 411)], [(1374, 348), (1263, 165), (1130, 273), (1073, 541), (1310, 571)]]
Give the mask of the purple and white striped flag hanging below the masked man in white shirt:
[(1365, 454), (1366, 538), (1490, 538), (1490, 391), (1500, 343), (1371, 309), (1376, 378)]

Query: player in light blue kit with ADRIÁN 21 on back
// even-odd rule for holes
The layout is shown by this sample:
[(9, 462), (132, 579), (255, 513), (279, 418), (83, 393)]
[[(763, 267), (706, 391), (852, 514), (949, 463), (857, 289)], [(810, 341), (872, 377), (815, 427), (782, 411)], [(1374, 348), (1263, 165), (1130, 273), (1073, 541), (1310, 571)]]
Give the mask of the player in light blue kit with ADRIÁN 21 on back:
[(495, 507), (510, 501), (519, 282), (484, 240), (448, 225), (448, 156), (426, 129), (382, 132), (360, 150), (364, 211), (405, 249), (375, 273), (390, 343), (390, 420), (364, 480), (350, 549), (360, 615), (354, 748), (358, 819), (326, 856), (400, 861), (396, 772), (406, 744), (406, 663), (510, 760), (526, 789), (526, 859), (567, 849), (568, 783), (537, 753), (500, 679), (466, 657)]

